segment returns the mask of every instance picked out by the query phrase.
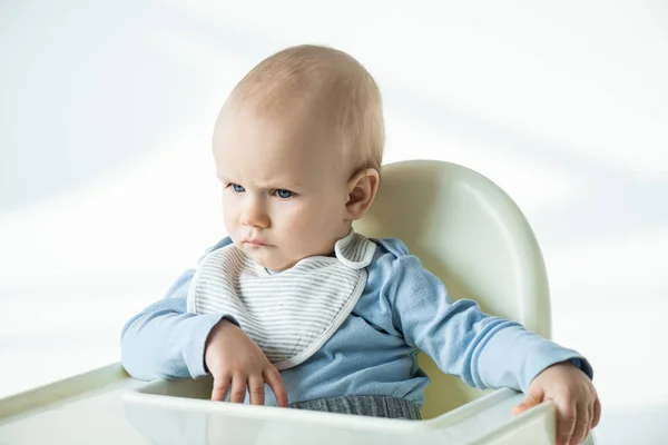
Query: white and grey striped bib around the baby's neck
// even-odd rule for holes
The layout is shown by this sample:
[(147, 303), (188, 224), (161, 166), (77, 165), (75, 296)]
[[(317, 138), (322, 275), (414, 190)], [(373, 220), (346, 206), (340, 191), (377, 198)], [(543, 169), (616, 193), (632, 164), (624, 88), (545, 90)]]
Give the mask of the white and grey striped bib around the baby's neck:
[(334, 257), (304, 258), (272, 275), (229, 245), (199, 263), (188, 312), (233, 316), (276, 369), (287, 369), (318, 350), (351, 314), (375, 249), (351, 230), (336, 241)]

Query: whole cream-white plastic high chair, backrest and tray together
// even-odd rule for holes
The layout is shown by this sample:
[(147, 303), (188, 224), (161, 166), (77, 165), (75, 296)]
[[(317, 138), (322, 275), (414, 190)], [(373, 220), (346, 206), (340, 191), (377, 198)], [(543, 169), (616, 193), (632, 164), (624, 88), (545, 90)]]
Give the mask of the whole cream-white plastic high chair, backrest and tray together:
[[(544, 264), (514, 202), (494, 184), (448, 162), (410, 161), (383, 168), (381, 189), (355, 229), (399, 237), (453, 298), (550, 336)], [(553, 444), (554, 406), (513, 417), (523, 396), (490, 394), (430, 375), (424, 421), (247, 406), (208, 400), (210, 380), (145, 383), (119, 364), (0, 400), (0, 443), (68, 444)], [(592, 436), (586, 441), (593, 444)]]

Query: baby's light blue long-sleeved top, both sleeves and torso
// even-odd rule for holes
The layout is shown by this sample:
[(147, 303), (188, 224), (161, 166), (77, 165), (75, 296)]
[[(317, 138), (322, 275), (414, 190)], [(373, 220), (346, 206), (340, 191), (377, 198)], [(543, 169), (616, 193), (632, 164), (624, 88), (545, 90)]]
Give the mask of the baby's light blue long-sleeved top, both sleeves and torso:
[[(443, 283), (400, 240), (375, 241), (379, 247), (367, 266), (367, 283), (351, 315), (311, 358), (281, 372), (291, 403), (382, 395), (422, 405), (429, 380), (418, 368), (419, 350), (444, 373), (479, 388), (525, 390), (541, 370), (569, 359), (592, 377), (591, 366), (574, 350), (518, 323), (483, 314), (473, 300), (453, 301)], [(228, 244), (225, 238), (210, 250)], [(206, 375), (205, 342), (225, 314), (186, 312), (194, 273), (184, 273), (165, 298), (124, 327), (122, 365), (131, 376)], [(273, 393), (265, 393), (266, 404), (276, 405)]]

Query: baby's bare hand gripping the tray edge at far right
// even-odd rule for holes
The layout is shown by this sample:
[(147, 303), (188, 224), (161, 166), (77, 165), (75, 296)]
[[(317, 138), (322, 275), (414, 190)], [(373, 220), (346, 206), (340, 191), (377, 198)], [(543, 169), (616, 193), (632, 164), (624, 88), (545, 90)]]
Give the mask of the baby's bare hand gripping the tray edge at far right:
[(518, 415), (546, 400), (557, 404), (557, 443), (576, 445), (584, 441), (601, 418), (601, 403), (589, 377), (572, 363), (552, 365), (529, 385)]

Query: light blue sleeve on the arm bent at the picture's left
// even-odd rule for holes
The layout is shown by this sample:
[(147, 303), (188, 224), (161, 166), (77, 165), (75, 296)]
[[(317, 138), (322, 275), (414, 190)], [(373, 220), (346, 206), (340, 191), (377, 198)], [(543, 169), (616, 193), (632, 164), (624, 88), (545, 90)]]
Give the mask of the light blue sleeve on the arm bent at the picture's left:
[(207, 374), (204, 363), (206, 339), (225, 316), (187, 313), (186, 297), (194, 274), (195, 270), (185, 271), (165, 298), (130, 318), (122, 328), (121, 363), (132, 377), (150, 380), (198, 378)]

